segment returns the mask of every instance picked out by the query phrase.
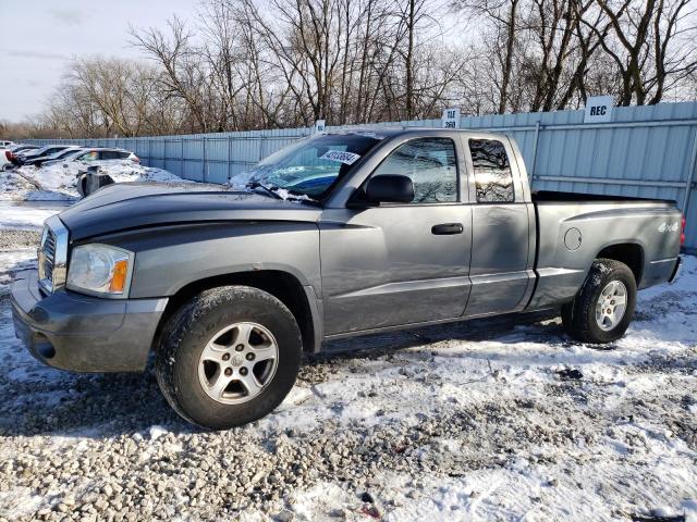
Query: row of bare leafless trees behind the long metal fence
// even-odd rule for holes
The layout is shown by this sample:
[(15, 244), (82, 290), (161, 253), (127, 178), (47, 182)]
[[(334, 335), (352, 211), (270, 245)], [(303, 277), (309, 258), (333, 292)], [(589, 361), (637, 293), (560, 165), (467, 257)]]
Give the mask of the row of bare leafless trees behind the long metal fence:
[[(697, 92), (690, 0), (201, 0), (74, 61), (22, 128), (100, 137), (657, 103)], [(644, 3), (646, 2), (646, 3)], [(466, 14), (449, 42), (443, 18)], [(450, 22), (449, 22), (450, 23)], [(473, 30), (474, 29), (474, 30)]]

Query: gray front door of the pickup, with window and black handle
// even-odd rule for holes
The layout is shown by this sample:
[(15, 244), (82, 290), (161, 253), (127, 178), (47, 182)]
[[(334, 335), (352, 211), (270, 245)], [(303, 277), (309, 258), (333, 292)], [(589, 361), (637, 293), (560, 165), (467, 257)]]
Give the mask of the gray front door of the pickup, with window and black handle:
[(472, 210), (460, 198), (460, 157), (450, 138), (408, 140), (371, 177), (409, 176), (414, 201), (322, 213), (326, 335), (463, 314)]

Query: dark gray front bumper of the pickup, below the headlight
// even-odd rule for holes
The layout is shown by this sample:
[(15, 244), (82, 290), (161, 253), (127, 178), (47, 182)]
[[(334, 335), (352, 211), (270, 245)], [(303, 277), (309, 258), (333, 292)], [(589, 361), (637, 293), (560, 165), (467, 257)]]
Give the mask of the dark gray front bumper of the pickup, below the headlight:
[(35, 270), (20, 272), (12, 285), (16, 336), (39, 361), (76, 372), (143, 371), (166, 306), (167, 298), (44, 296)]

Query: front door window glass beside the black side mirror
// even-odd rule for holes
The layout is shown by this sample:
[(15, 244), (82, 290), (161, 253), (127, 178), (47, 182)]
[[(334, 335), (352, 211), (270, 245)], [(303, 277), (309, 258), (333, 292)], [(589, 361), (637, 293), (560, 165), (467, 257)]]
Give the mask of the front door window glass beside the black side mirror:
[(457, 163), (452, 139), (423, 138), (401, 145), (372, 175), (386, 174), (401, 174), (412, 178), (413, 203), (457, 201)]

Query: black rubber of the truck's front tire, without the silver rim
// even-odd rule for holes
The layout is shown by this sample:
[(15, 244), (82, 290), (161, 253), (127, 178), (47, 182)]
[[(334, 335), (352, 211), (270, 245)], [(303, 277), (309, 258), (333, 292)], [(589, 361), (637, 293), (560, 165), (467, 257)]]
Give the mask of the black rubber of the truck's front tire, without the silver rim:
[[(216, 333), (236, 322), (258, 323), (271, 332), (278, 345), (278, 365), (259, 395), (225, 405), (205, 391), (198, 364)], [(295, 383), (302, 355), (295, 318), (279, 299), (248, 286), (224, 286), (203, 291), (169, 319), (158, 343), (155, 369), (164, 398), (181, 417), (203, 427), (225, 430), (260, 419), (281, 403)]]

